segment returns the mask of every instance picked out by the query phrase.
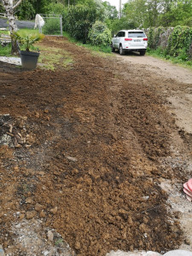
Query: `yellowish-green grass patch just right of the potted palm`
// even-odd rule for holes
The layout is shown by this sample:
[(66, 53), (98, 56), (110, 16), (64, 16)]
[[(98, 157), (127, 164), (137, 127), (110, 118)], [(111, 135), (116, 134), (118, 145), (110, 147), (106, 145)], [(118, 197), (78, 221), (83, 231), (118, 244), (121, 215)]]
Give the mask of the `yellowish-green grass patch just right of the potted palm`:
[[(38, 45), (41, 46), (40, 44), (36, 44), (36, 46)], [(69, 68), (73, 64), (73, 58), (64, 49), (44, 47), (41, 50), (38, 63), (41, 63), (43, 68), (55, 70), (58, 66)]]

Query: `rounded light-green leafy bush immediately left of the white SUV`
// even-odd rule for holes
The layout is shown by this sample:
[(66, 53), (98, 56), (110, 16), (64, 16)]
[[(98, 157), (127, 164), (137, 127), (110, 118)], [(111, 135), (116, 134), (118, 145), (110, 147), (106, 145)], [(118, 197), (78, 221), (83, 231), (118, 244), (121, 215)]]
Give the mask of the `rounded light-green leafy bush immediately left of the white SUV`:
[(111, 43), (111, 32), (102, 21), (96, 21), (90, 29), (88, 37), (93, 45), (109, 45)]

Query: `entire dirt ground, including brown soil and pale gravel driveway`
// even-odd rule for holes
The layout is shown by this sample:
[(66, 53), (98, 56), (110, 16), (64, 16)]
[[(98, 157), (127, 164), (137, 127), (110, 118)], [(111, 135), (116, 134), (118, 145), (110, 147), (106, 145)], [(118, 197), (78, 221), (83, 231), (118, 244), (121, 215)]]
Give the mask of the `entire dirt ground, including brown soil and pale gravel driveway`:
[(192, 205), (182, 192), (192, 177), (192, 73), (177, 79), (171, 71), (180, 67), (93, 55), (65, 38), (44, 46), (67, 50), (73, 66), (0, 65), (4, 251), (192, 249)]

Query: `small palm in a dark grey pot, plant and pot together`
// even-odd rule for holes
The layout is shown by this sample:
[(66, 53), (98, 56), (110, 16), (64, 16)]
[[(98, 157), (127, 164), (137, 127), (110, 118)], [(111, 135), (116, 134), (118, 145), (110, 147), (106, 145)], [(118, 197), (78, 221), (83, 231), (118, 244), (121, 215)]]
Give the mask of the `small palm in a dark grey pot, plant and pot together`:
[(43, 39), (44, 35), (38, 32), (29, 34), (27, 32), (18, 31), (15, 32), (13, 36), (20, 44), (22, 67), (29, 70), (35, 69), (38, 64), (38, 56), (40, 53), (39, 51), (32, 51), (32, 49), (35, 49), (33, 44)]

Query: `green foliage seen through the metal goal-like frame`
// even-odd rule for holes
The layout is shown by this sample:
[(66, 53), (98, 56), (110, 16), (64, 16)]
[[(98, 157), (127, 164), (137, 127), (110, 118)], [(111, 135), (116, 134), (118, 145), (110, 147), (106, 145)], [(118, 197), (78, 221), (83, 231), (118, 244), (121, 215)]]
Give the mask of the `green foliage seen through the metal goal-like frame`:
[(45, 19), (43, 26), (43, 33), (45, 35), (58, 35), (61, 33), (60, 19), (50, 18)]

